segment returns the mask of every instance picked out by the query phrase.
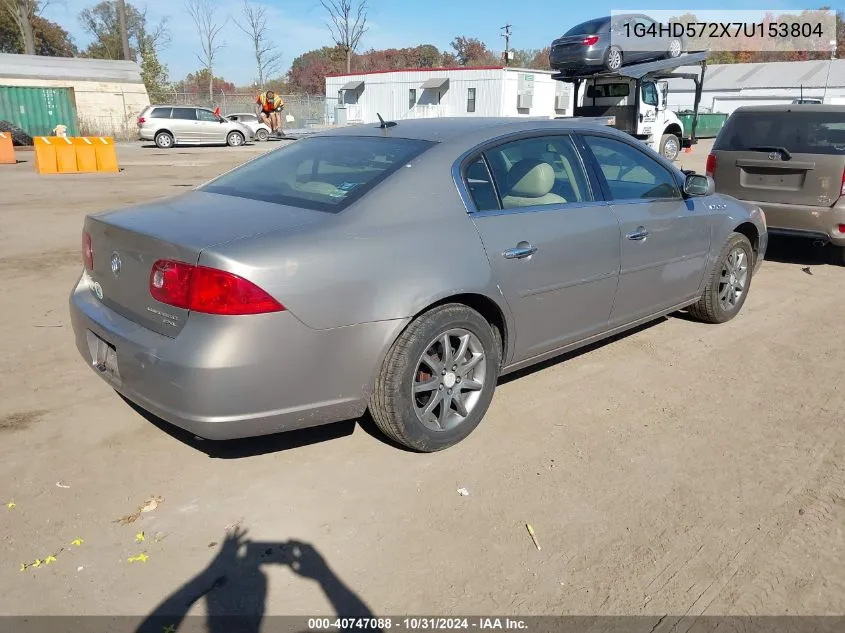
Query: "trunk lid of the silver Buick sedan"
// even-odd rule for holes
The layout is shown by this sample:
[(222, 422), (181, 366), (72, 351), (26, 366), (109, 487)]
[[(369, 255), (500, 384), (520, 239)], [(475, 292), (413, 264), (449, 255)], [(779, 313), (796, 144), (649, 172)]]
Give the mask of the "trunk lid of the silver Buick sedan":
[(270, 231), (325, 221), (329, 213), (207, 192), (88, 216), (93, 270), (90, 285), (100, 301), (143, 327), (175, 337), (189, 310), (150, 294), (150, 273), (160, 259), (195, 265), (215, 245)]

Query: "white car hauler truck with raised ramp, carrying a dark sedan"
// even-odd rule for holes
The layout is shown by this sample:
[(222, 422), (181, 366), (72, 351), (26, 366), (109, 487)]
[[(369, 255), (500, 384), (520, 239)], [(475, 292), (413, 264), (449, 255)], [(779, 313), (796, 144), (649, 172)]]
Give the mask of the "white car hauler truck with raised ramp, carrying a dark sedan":
[[(673, 59), (623, 66), (616, 71), (558, 73), (558, 81), (569, 82), (574, 90), (574, 115), (609, 117), (613, 127), (628, 132), (669, 160), (675, 160), (682, 147), (697, 142), (698, 105), (707, 68), (707, 51)], [(698, 65), (697, 73), (677, 72), (681, 66)], [(677, 115), (669, 110), (668, 79), (690, 79), (695, 83), (695, 103), (691, 129), (685, 130)]]

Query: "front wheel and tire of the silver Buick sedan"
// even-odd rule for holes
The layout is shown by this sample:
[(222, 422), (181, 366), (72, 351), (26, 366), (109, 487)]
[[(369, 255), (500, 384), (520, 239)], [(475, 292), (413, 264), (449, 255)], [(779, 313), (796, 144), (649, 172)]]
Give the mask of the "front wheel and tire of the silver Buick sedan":
[[(742, 272), (739, 270), (741, 268)], [(710, 271), (704, 294), (689, 308), (692, 317), (705, 323), (725, 323), (742, 309), (754, 270), (754, 250), (741, 233), (731, 233)], [(737, 295), (737, 288), (741, 290)]]

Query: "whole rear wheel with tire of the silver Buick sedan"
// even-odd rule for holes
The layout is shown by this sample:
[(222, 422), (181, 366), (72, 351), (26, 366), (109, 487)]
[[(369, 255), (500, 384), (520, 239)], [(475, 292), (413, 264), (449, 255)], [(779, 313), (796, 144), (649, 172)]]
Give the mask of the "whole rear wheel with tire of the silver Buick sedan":
[[(444, 337), (454, 363), (446, 367)], [(387, 437), (415, 451), (454, 446), (487, 412), (501, 354), (501, 338), (478, 312), (456, 303), (436, 307), (412, 321), (391, 346), (376, 378), (370, 414)]]

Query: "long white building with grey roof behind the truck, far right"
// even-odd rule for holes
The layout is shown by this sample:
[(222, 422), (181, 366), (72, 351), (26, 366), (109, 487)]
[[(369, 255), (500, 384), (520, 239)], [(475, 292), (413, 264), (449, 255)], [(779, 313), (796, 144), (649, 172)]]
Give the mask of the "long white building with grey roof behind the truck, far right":
[[(678, 72), (697, 73), (698, 67), (682, 67)], [(824, 103), (845, 104), (845, 59), (807, 62), (767, 62), (755, 64), (713, 64), (704, 74), (701, 109), (730, 114), (745, 105), (777, 105), (793, 99), (821, 99)], [(669, 107), (692, 109), (693, 82), (669, 82)]]

